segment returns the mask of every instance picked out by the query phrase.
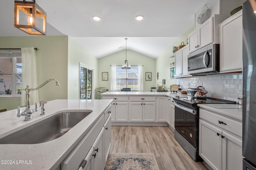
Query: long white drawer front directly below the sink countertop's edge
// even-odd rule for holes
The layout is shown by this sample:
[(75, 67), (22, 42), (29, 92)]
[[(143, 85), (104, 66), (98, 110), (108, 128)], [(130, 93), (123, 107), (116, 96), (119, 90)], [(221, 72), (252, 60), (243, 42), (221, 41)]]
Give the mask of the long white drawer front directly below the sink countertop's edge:
[(61, 170), (74, 170), (78, 169), (84, 156), (89, 152), (92, 144), (98, 136), (100, 130), (104, 125), (104, 115), (96, 122), (87, 135), (78, 143), (78, 145), (70, 152), (61, 164)]

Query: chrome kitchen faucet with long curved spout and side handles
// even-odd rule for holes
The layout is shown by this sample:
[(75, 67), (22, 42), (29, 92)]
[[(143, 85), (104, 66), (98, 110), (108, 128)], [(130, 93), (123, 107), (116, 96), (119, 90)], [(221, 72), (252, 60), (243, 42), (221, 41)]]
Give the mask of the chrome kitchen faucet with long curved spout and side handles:
[(30, 91), (38, 90), (38, 89), (42, 88), (42, 86), (44, 86), (45, 84), (47, 84), (48, 82), (50, 82), (52, 80), (54, 80), (56, 82), (56, 86), (60, 86), (60, 83), (58, 82), (58, 80), (51, 78), (49, 80), (46, 80), (46, 82), (44, 82), (43, 84), (41, 84), (37, 88), (29, 88), (29, 86), (27, 85), (27, 87), (25, 89), (23, 89), (23, 90), (26, 91), (26, 109), (22, 113), (20, 113), (20, 106), (18, 106), (18, 108), (17, 108), (17, 112), (18, 112), (17, 117), (25, 116), (24, 121), (29, 121), (29, 120), (32, 119), (31, 115), (32, 115), (32, 113), (37, 111), (37, 104), (35, 103), (35, 109), (30, 109)]

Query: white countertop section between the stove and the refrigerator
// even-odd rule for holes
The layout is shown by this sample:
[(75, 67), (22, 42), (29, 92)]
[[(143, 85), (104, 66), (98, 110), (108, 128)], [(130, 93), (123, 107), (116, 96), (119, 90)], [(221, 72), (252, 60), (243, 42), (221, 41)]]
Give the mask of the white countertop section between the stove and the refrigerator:
[(198, 104), (197, 106), (209, 109), (216, 113), (242, 121), (242, 105), (239, 104)]

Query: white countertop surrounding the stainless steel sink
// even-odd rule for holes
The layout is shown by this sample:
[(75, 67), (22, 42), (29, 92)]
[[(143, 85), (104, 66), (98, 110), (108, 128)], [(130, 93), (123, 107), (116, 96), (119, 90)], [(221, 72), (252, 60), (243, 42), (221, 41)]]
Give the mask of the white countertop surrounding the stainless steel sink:
[[(82, 119), (65, 135), (52, 141), (30, 145), (0, 145), (0, 160), (14, 161), (14, 164), (0, 164), (0, 169), (46, 170), (57, 168), (96, 123), (111, 102), (112, 100), (52, 100), (45, 105), (46, 115), (40, 116), (40, 109), (38, 109), (37, 112), (32, 114), (33, 119), (31, 121), (23, 121), (24, 116), (16, 117), (16, 109), (0, 113), (0, 138), (2, 138), (57, 113), (92, 110), (92, 113)], [(24, 109), (24, 107), (21, 108), (22, 111)], [(44, 129), (39, 130), (43, 131)], [(27, 164), (17, 164), (16, 161), (19, 162), (19, 160), (27, 161)]]

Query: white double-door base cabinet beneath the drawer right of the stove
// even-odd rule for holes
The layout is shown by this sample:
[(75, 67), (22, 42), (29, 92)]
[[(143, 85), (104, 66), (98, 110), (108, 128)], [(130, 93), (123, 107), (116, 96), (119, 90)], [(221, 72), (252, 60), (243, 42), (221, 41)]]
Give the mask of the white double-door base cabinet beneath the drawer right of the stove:
[(201, 119), (199, 155), (213, 170), (242, 170), (242, 140)]

